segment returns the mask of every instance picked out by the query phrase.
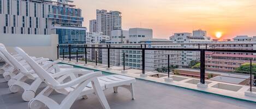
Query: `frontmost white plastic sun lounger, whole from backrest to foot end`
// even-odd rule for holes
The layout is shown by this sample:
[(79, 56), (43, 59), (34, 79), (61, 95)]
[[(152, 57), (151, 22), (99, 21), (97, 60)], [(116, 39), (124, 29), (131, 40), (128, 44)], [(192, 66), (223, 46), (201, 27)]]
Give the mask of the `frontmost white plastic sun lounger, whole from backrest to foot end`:
[[(58, 85), (53, 85), (53, 81), (56, 81), (56, 79), (51, 80), (52, 82), (49, 82), (50, 80), (47, 81), (46, 76), (44, 76), (43, 73), (46, 73), (45, 70), (43, 70), (40, 66), (38, 66), (37, 64), (35, 64), (35, 62), (31, 59), (29, 59), (29, 56), (23, 52), (22, 49), (16, 47), (15, 48), (16, 51), (20, 54), (22, 54), (22, 56), (24, 56), (24, 58), (28, 61), (29, 65), (32, 66), (32, 68), (34, 70), (37, 71), (39, 77), (41, 79), (43, 79), (47, 85), (49, 85), (48, 87), (46, 87), (42, 92), (40, 92), (37, 97), (35, 97), (34, 99), (32, 99), (29, 102), (29, 108), (40, 108), (43, 104), (46, 105), (49, 108), (66, 108), (66, 107), (62, 107), (64, 106), (64, 104), (66, 104), (68, 102), (69, 99), (72, 99), (72, 104), (74, 102), (74, 100), (78, 97), (84, 97), (87, 98), (87, 94), (91, 94), (91, 93), (96, 93), (97, 97), (99, 98), (99, 100), (101, 101), (100, 103), (103, 105), (104, 108), (109, 108), (108, 106), (108, 102), (105, 101), (105, 96), (104, 93), (102, 93), (102, 90), (108, 89), (108, 88), (114, 88), (114, 92), (117, 92), (117, 88), (118, 87), (124, 87), (127, 88), (131, 93), (132, 93), (132, 99), (135, 99), (134, 96), (134, 83), (135, 83), (135, 78), (130, 78), (127, 76), (122, 76), (122, 75), (108, 75), (108, 76), (99, 76), (98, 74), (96, 74), (95, 76), (91, 76), (93, 77), (93, 79), (88, 79), (88, 80), (82, 80), (81, 78), (83, 76), (90, 76), (92, 74), (98, 73), (98, 72), (94, 72), (94, 73), (83, 73), (83, 72), (75, 72), (75, 73), (81, 73), (84, 74), (83, 76), (80, 76), (79, 78), (73, 79), (72, 81), (69, 81), (65, 84), (60, 84), (63, 83), (64, 79), (66, 79), (68, 76), (72, 76), (73, 74), (75, 74), (74, 72), (66, 72), (66, 74), (64, 73), (56, 73), (53, 75), (50, 75), (51, 77), (47, 77), (47, 78), (58, 78), (57, 79), (57, 83), (56, 84), (60, 84), (63, 87), (59, 87)], [(96, 76), (99, 76), (96, 78)], [(94, 79), (96, 78), (96, 79)], [(79, 81), (79, 82), (75, 82), (75, 81)], [(72, 82), (75, 82), (75, 84), (72, 84)], [(85, 82), (85, 83), (84, 83)], [(97, 85), (99, 82), (99, 85)], [(82, 86), (83, 84), (86, 84), (85, 86)], [(81, 88), (82, 87), (82, 88)], [(97, 89), (97, 88), (101, 88), (101, 89)], [(58, 93), (62, 93), (62, 94), (66, 94), (67, 97), (64, 98), (64, 100), (61, 102), (61, 104), (58, 104), (56, 101), (52, 100), (50, 97), (48, 97), (50, 95), (50, 93), (55, 90)], [(97, 90), (99, 92), (97, 92)], [(75, 92), (79, 92), (77, 94), (74, 94)], [(101, 94), (102, 93), (102, 94)], [(74, 98), (72, 98), (72, 96)], [(68, 104), (68, 106), (72, 105), (72, 104)], [(67, 107), (70, 108), (70, 107)]]

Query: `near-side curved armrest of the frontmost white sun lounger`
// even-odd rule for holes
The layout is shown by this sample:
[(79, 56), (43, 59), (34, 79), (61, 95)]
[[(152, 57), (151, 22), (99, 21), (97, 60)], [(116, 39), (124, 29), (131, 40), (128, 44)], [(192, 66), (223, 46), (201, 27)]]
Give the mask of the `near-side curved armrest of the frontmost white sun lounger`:
[(76, 78), (72, 81), (66, 82), (66, 83), (61, 84), (61, 85), (56, 85), (56, 86), (53, 86), (53, 87), (55, 87), (56, 89), (63, 89), (63, 88), (67, 88), (67, 87), (72, 87), (72, 86), (78, 85), (81, 82), (84, 82), (88, 79), (96, 78), (97, 76), (100, 76), (101, 74), (102, 74), (101, 72), (88, 73), (88, 74), (82, 75), (79, 78)]

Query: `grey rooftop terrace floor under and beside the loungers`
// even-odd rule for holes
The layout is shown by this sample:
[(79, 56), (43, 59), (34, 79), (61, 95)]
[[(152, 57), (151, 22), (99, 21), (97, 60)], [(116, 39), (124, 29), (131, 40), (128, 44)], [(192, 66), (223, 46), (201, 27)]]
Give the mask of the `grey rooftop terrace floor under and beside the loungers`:
[[(135, 84), (135, 100), (124, 88), (118, 88), (118, 93), (113, 89), (105, 92), (111, 109), (166, 109), (166, 108), (255, 108), (256, 104), (216, 95), (200, 93), (188, 89), (158, 84), (156, 82), (137, 80)], [(53, 94), (53, 98), (60, 100), (64, 96)], [(21, 93), (10, 93), (7, 83), (0, 84), (1, 109), (26, 109), (28, 102), (21, 99)], [(47, 107), (45, 107), (47, 108)], [(102, 106), (96, 96), (88, 95), (88, 99), (78, 99), (72, 106), (73, 109), (100, 109)]]

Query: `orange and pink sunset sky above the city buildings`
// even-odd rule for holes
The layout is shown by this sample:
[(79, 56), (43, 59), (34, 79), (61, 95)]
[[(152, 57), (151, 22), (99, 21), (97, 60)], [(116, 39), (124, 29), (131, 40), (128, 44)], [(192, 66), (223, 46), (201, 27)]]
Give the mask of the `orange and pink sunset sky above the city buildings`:
[[(168, 39), (173, 33), (207, 30), (207, 36), (232, 39), (256, 36), (256, 0), (74, 0), (82, 9), (84, 26), (96, 19), (96, 9), (122, 12), (122, 27), (153, 29), (154, 38)], [(140, 26), (141, 22), (141, 26)]]

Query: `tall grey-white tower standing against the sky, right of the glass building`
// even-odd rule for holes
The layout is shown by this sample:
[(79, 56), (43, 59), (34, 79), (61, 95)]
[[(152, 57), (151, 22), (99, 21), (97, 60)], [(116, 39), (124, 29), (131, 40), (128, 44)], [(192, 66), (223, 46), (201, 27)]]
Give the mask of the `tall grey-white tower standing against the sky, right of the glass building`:
[(97, 32), (111, 36), (112, 30), (122, 29), (122, 16), (119, 11), (107, 11), (97, 9)]

